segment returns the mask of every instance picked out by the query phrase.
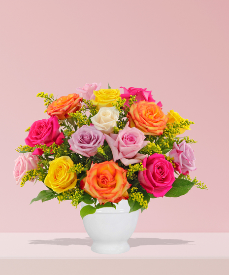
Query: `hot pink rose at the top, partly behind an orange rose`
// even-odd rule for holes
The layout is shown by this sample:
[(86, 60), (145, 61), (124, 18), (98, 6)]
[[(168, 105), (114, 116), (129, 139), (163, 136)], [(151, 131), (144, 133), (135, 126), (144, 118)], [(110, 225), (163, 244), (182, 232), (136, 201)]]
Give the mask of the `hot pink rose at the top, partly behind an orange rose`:
[[(148, 102), (155, 102), (155, 100), (153, 99), (152, 97), (152, 94), (151, 92), (152, 91), (146, 91), (146, 88), (145, 89), (142, 89), (142, 88), (133, 88), (133, 87), (130, 87), (129, 89), (125, 88), (125, 87), (120, 87), (120, 88), (123, 88), (124, 90), (124, 94), (121, 94), (121, 98), (122, 99), (127, 99), (126, 101), (126, 105), (129, 105), (129, 100), (131, 98), (131, 96), (136, 96), (136, 100), (137, 102), (139, 101), (148, 101)], [(157, 103), (159, 107), (162, 107), (162, 103), (159, 102)]]

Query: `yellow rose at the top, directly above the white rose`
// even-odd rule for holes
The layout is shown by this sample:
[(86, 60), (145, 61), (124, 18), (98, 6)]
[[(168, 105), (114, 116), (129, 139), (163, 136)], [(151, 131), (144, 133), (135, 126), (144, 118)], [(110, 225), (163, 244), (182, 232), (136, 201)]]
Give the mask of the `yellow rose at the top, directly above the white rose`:
[(95, 100), (92, 100), (93, 105), (96, 105), (98, 109), (101, 107), (113, 107), (111, 103), (115, 103), (120, 96), (119, 89), (100, 89), (93, 91), (96, 96)]

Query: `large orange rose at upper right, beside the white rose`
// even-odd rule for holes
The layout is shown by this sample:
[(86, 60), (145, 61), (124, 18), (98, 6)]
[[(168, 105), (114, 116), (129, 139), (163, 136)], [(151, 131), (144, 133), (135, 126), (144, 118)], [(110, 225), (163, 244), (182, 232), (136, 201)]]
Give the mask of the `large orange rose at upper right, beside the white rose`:
[(154, 102), (147, 101), (132, 104), (127, 117), (130, 127), (136, 127), (144, 135), (151, 136), (162, 135), (168, 120), (161, 107)]

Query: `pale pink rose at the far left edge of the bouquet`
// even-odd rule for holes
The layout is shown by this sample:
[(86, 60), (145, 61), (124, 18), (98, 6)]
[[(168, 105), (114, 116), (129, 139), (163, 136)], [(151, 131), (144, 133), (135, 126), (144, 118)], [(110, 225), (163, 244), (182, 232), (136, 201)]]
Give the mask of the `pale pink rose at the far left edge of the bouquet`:
[[(23, 176), (26, 174), (27, 171), (37, 169), (38, 162), (39, 159), (37, 158), (37, 156), (33, 156), (32, 153), (29, 153), (27, 156), (21, 154), (15, 160), (15, 167), (13, 170), (13, 176), (16, 180), (16, 184), (19, 184), (21, 182)], [(31, 181), (33, 182), (34, 178)]]

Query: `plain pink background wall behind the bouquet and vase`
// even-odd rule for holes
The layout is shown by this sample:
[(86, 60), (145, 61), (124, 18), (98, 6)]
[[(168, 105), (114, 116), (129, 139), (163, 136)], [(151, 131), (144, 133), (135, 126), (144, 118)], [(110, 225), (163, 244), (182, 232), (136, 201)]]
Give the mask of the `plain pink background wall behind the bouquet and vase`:
[(47, 118), (38, 92), (85, 83), (153, 91), (163, 110), (195, 121), (187, 135), (209, 190), (152, 200), (136, 232), (229, 232), (229, 1), (1, 0), (0, 232), (85, 232), (79, 209), (29, 205), (43, 183), (15, 184), (15, 148)]

